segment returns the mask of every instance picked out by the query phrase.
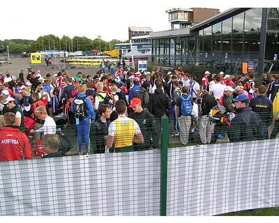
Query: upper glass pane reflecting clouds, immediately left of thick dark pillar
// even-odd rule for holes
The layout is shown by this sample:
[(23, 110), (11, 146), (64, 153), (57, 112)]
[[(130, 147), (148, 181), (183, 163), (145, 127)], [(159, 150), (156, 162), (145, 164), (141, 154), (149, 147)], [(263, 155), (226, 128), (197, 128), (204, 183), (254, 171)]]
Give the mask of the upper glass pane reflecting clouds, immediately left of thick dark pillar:
[(244, 31), (261, 31), (262, 8), (251, 8), (245, 12)]

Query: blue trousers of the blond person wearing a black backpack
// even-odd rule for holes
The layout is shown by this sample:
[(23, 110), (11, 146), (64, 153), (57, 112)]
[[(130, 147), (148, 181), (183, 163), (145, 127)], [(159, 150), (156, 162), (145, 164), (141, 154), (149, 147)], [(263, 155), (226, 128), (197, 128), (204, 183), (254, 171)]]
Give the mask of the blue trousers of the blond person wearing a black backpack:
[(86, 153), (88, 153), (89, 149), (89, 131), (90, 131), (90, 119), (84, 118), (77, 125), (77, 139), (79, 145), (79, 151), (82, 151), (82, 142), (84, 139)]

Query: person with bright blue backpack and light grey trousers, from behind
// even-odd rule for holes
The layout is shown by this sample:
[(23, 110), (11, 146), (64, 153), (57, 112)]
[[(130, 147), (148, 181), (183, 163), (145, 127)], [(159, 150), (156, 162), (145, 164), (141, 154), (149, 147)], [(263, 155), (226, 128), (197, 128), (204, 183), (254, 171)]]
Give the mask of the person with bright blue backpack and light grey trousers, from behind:
[(193, 111), (193, 98), (188, 95), (188, 87), (182, 87), (182, 95), (176, 102), (176, 114), (179, 120), (180, 140), (183, 145), (188, 143), (189, 131), (191, 127), (191, 116)]

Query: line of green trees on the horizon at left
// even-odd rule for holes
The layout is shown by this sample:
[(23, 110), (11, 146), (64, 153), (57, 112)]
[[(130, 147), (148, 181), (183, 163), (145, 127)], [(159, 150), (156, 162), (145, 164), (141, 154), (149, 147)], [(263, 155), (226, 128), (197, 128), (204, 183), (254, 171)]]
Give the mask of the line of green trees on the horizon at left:
[(68, 52), (75, 51), (89, 51), (91, 49), (98, 49), (101, 52), (104, 50), (114, 49), (114, 45), (117, 43), (129, 43), (128, 40), (110, 40), (106, 42), (99, 38), (89, 39), (85, 36), (75, 36), (70, 38), (68, 36), (63, 36), (59, 38), (54, 35), (40, 36), (37, 40), (22, 40), (22, 39), (12, 39), (12, 40), (0, 40), (0, 53), (7, 52), (7, 46), (9, 46), (10, 54), (21, 54), (22, 52), (38, 52), (45, 50), (61, 50)]

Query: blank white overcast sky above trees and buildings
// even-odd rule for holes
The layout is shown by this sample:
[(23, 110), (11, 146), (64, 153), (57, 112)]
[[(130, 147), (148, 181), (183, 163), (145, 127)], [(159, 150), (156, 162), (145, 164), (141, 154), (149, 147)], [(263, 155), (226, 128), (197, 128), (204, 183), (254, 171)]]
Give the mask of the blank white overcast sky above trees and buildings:
[[(262, 4), (262, 5), (261, 5)], [(273, 6), (272, 6), (273, 4)], [(171, 8), (276, 7), (276, 1), (222, 0), (4, 0), (0, 1), (0, 40), (31, 39), (54, 34), (86, 36), (103, 40), (128, 40), (128, 26), (150, 26), (153, 31), (170, 29)]]

